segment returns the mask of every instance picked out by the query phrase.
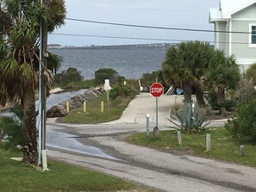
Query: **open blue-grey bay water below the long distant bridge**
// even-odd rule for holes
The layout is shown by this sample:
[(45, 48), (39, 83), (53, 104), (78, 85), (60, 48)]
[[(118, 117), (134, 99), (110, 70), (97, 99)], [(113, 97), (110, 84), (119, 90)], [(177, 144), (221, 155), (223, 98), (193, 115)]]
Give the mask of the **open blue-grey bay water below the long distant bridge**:
[(165, 59), (164, 49), (51, 49), (52, 53), (62, 57), (59, 72), (68, 67), (77, 68), (85, 79), (94, 78), (94, 72), (102, 68), (111, 68), (120, 76), (140, 78), (145, 72), (158, 71)]

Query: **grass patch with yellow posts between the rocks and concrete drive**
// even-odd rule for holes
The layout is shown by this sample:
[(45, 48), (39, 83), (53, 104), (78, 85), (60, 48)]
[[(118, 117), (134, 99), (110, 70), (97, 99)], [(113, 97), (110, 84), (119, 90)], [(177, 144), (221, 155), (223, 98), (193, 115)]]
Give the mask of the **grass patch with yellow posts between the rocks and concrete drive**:
[[(104, 102), (104, 111), (101, 112), (101, 102)], [(111, 101), (109, 99), (109, 112), (106, 94), (100, 95), (90, 102), (86, 103), (86, 113), (84, 107), (76, 108), (70, 111), (65, 117), (61, 118), (62, 122), (74, 124), (96, 124), (108, 121), (115, 121), (122, 115), (123, 110), (131, 101), (130, 97), (122, 98), (122, 100)]]

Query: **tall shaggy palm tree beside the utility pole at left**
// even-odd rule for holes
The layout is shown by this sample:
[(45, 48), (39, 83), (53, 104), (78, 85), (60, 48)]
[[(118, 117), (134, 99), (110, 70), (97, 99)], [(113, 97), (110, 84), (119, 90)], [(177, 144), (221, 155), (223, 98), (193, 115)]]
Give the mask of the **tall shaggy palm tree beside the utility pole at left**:
[[(23, 109), (23, 161), (37, 164), (34, 89), (38, 87), (40, 22), (47, 32), (64, 24), (64, 0), (2, 0), (0, 21), (0, 100), (21, 101)], [(59, 64), (49, 63), (50, 69)], [(43, 64), (44, 65), (44, 64)], [(44, 65), (45, 66), (45, 65)], [(44, 71), (48, 77), (50, 72)]]

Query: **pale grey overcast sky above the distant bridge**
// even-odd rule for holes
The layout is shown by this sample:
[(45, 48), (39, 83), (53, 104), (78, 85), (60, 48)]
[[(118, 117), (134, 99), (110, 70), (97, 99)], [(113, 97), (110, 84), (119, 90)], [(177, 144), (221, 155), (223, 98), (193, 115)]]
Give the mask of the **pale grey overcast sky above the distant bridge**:
[[(66, 0), (66, 17), (153, 27), (213, 29), (213, 24), (208, 22), (209, 8), (218, 5), (219, 0)], [(162, 40), (129, 40), (90, 35)], [(129, 28), (66, 20), (65, 26), (49, 35), (48, 43), (61, 46), (91, 46), (163, 43), (177, 40), (213, 41), (214, 34)]]

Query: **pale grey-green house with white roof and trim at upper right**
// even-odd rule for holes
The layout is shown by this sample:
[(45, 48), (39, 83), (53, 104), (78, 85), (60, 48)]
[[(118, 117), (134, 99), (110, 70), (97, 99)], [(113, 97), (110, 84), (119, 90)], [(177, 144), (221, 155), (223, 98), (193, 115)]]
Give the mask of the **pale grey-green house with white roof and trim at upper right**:
[(256, 62), (256, 0), (220, 0), (209, 9), (215, 24), (215, 49), (235, 56), (242, 71)]

